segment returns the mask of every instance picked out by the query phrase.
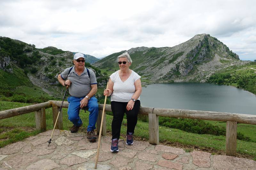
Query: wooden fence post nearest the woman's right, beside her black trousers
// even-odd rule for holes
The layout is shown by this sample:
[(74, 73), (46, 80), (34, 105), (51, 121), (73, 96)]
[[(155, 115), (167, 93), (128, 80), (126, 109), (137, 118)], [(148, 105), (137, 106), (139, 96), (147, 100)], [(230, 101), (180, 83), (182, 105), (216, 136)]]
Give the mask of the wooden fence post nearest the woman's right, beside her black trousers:
[(153, 113), (148, 113), (148, 132), (149, 143), (153, 145), (159, 144), (159, 124), (158, 116)]

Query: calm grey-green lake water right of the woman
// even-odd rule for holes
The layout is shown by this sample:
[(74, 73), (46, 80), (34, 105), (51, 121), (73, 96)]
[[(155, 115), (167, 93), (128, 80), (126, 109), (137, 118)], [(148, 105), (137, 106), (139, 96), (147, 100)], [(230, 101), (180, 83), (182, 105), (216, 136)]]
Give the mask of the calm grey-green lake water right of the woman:
[(179, 82), (142, 87), (142, 107), (256, 115), (256, 95), (233, 86)]

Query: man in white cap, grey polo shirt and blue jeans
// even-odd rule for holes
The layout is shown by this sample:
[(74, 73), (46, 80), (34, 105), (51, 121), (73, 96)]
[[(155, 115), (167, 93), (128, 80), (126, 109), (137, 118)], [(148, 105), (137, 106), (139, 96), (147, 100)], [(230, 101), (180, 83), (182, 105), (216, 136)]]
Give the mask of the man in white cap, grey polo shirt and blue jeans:
[(84, 67), (85, 58), (81, 53), (74, 55), (74, 67), (67, 68), (59, 76), (58, 80), (61, 85), (69, 85), (68, 97), (68, 120), (74, 125), (71, 128), (71, 133), (76, 133), (83, 125), (79, 117), (79, 111), (83, 107), (88, 107), (89, 124), (87, 127), (87, 138), (90, 141), (95, 141), (97, 136), (94, 133), (95, 124), (98, 117), (98, 101), (94, 96), (97, 92), (97, 81), (92, 70)]

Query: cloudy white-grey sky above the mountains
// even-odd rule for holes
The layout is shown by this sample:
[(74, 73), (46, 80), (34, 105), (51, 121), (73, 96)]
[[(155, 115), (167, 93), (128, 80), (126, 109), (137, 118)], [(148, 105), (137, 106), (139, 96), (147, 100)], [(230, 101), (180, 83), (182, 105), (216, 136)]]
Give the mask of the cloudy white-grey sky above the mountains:
[(254, 0), (1, 0), (0, 36), (99, 58), (208, 33), (240, 59), (255, 60), (255, 6)]

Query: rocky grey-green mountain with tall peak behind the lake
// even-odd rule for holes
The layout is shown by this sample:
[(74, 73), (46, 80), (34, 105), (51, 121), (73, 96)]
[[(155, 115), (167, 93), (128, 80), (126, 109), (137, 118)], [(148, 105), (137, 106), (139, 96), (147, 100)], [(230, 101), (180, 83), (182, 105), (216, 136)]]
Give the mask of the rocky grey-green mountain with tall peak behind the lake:
[[(124, 51), (108, 55), (93, 63), (100, 69), (118, 70), (116, 57)], [(245, 64), (238, 55), (209, 34), (195, 35), (174, 47), (137, 47), (128, 51), (131, 69), (148, 83), (169, 81), (201, 81), (232, 65)], [(189, 76), (189, 77), (188, 77)]]

